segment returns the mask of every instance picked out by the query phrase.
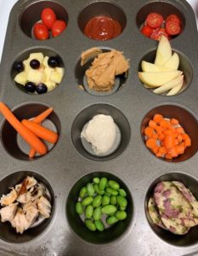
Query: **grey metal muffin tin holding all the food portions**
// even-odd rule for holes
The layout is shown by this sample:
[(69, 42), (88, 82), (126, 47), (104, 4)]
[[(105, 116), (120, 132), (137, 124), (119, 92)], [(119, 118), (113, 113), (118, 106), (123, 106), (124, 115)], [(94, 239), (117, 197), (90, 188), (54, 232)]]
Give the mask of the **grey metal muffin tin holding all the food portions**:
[[(117, 38), (101, 42), (87, 38), (82, 28), (89, 15), (108, 14), (113, 6), (114, 18), (122, 23), (122, 34)], [(65, 32), (58, 38), (38, 41), (31, 38), (31, 23), (37, 20), (44, 7), (53, 8), (61, 19), (68, 23)], [(153, 58), (157, 42), (139, 32), (139, 26), (150, 11), (158, 11), (164, 17), (177, 13), (183, 23), (183, 32), (171, 40), (173, 51), (182, 58), (185, 69), (186, 89), (178, 96), (157, 96), (146, 90), (139, 81), (138, 71), (144, 56)], [(29, 160), (21, 142), (0, 116), (0, 180), (1, 193), (6, 193), (8, 185), (18, 183), (26, 172), (46, 183), (53, 197), (53, 214), (37, 232), (18, 239), (0, 230), (1, 255), (196, 255), (198, 253), (197, 228), (190, 236), (175, 237), (157, 230), (150, 223), (146, 202), (155, 184), (172, 177), (183, 181), (197, 198), (198, 180), (198, 34), (195, 15), (190, 5), (181, 1), (22, 1), (14, 5), (9, 17), (0, 76), (0, 97), (19, 119), (29, 118), (42, 110), (53, 107), (54, 113), (48, 119), (48, 127), (59, 132), (59, 141), (42, 157)], [(79, 71), (82, 51), (99, 47), (123, 51), (130, 59), (130, 69), (122, 86), (110, 95), (98, 95), (81, 90)], [(48, 94), (30, 95), (24, 93), (13, 81), (12, 67), (15, 60), (26, 53), (43, 49), (46, 53), (59, 55), (65, 75), (61, 84)], [(180, 160), (173, 162), (157, 159), (145, 147), (142, 132), (151, 115), (161, 111), (164, 114), (181, 117), (185, 131), (192, 137), (192, 148)], [(113, 116), (121, 131), (121, 143), (116, 151), (97, 158), (90, 154), (80, 142), (83, 125), (98, 113)], [(108, 172), (122, 180), (133, 198), (132, 211), (127, 217), (127, 228), (122, 236), (96, 245), (76, 235), (72, 229), (68, 208), (71, 188), (82, 177), (93, 172)], [(85, 181), (86, 182), (86, 181)], [(68, 197), (69, 196), (69, 197)], [(66, 210), (67, 209), (67, 210)], [(72, 220), (71, 220), (72, 219)], [(2, 224), (1, 224), (2, 225)], [(8, 224), (3, 224), (6, 227)], [(13, 230), (14, 232), (14, 230)], [(21, 237), (20, 237), (21, 236)], [(93, 236), (97, 234), (93, 233)]]

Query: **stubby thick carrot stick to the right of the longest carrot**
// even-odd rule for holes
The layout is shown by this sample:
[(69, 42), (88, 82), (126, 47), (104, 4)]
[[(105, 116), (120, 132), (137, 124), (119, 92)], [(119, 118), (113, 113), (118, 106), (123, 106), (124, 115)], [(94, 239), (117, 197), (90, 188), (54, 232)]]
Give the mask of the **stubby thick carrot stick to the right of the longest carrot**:
[(58, 140), (58, 134), (55, 131), (51, 131), (42, 125), (35, 124), (31, 120), (23, 119), (21, 122), (32, 131), (37, 137), (41, 137), (42, 139), (46, 140), (48, 143), (56, 143)]

